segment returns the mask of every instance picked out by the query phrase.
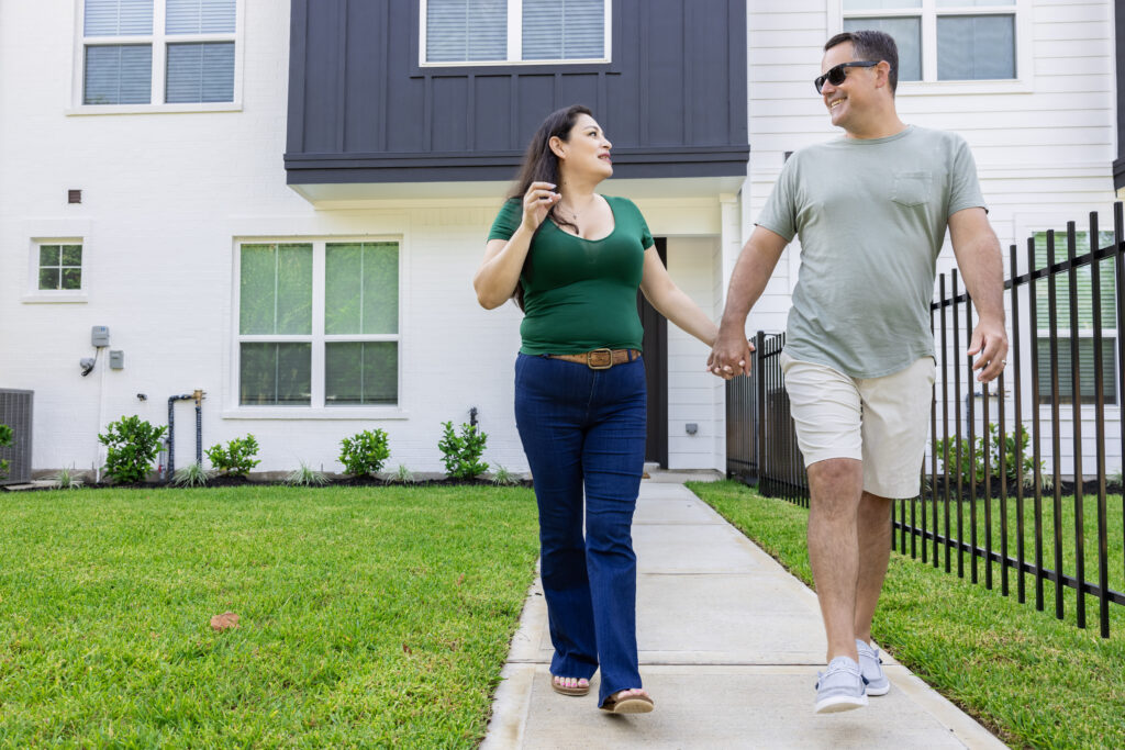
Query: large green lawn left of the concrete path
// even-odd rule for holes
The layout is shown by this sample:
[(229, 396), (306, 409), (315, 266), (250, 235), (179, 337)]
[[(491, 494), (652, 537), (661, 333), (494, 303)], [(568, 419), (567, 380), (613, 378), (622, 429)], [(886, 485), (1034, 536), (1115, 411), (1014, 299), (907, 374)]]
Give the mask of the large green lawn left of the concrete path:
[(538, 555), (521, 488), (8, 494), (0, 527), (20, 748), (475, 747)]

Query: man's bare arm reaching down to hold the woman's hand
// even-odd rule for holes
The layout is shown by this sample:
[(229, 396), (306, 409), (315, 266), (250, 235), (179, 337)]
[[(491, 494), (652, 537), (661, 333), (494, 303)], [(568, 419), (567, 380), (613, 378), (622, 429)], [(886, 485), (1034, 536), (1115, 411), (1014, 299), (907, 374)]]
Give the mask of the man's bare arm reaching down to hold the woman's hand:
[(750, 373), (752, 350), (746, 341), (746, 316), (765, 291), (766, 282), (788, 244), (789, 241), (780, 234), (757, 226), (738, 255), (730, 274), (719, 337), (706, 361), (708, 370), (724, 380), (739, 373)]

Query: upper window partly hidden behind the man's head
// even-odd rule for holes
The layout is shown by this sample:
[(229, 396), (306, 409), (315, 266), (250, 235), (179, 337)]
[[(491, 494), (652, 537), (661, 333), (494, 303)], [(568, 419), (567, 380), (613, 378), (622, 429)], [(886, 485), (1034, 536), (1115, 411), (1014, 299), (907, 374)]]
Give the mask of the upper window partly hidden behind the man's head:
[(899, 81), (1014, 80), (1019, 0), (843, 0), (845, 31), (886, 31)]

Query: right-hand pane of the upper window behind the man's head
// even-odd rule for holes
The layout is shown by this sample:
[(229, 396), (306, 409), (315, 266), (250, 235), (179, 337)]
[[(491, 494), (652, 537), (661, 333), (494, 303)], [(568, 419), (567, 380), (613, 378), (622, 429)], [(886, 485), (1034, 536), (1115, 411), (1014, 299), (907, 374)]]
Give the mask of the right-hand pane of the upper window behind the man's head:
[(939, 16), (937, 79), (1016, 78), (1015, 16)]

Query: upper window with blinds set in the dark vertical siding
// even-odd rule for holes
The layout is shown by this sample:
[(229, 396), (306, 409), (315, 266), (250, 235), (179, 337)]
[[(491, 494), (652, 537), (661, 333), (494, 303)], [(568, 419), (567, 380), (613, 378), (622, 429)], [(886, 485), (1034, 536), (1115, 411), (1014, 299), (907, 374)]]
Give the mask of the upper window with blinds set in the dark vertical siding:
[(422, 63), (604, 62), (609, 0), (422, 0)]

